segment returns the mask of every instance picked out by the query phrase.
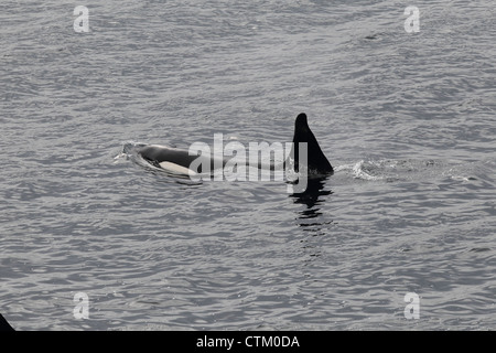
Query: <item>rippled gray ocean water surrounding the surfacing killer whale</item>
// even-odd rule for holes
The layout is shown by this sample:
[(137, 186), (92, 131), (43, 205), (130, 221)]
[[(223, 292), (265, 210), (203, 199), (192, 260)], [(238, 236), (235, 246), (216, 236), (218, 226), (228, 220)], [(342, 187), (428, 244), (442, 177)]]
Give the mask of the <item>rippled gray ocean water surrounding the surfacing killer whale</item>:
[[(18, 330), (495, 330), (495, 19), (490, 0), (1, 1), (0, 312)], [(123, 153), (287, 142), (301, 111), (336, 171), (303, 195)]]

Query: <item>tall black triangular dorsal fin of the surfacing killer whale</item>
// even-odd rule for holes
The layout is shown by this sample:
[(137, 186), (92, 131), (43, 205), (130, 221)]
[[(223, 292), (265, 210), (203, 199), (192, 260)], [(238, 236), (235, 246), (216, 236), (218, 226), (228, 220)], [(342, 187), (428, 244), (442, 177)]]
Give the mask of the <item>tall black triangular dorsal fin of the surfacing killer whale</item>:
[(308, 147), (308, 168), (312, 172), (320, 174), (334, 173), (333, 167), (328, 162), (324, 152), (322, 152), (319, 142), (310, 130), (309, 122), (306, 121), (306, 115), (301, 113), (294, 122), (294, 136), (293, 136), (293, 149), (294, 149), (294, 170), (299, 171), (300, 158), (299, 158), (299, 142), (306, 142)]

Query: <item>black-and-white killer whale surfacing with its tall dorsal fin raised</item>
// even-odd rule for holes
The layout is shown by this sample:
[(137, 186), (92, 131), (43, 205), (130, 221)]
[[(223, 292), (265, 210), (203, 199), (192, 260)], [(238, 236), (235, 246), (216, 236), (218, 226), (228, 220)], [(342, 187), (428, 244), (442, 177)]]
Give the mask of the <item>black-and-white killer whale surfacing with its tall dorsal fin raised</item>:
[[(299, 158), (299, 142), (308, 143), (308, 158), (306, 158), (306, 167), (310, 173), (320, 174), (320, 175), (330, 175), (334, 173), (333, 167), (330, 161), (325, 157), (324, 152), (322, 152), (319, 142), (313, 135), (312, 130), (309, 127), (306, 114), (301, 113), (298, 115), (294, 122), (294, 135), (293, 135), (293, 151), (291, 156), (293, 156), (293, 167), (298, 172), (300, 169), (300, 158)], [(202, 165), (209, 165), (209, 170), (214, 170), (218, 167), (224, 168), (229, 159), (212, 157), (212, 156), (203, 156), (198, 154), (190, 154), (188, 150), (179, 149), (162, 145), (144, 145), (138, 147), (138, 154), (140, 154), (147, 162), (150, 164), (165, 169), (168, 171), (172, 171), (181, 174), (197, 174), (202, 173)], [(195, 165), (198, 165), (196, 169), (191, 169), (192, 163), (195, 161)], [(282, 167), (285, 167), (288, 160), (283, 162)], [(259, 168), (261, 168), (261, 163), (259, 163)], [(271, 164), (270, 169), (273, 170), (274, 165)]]

